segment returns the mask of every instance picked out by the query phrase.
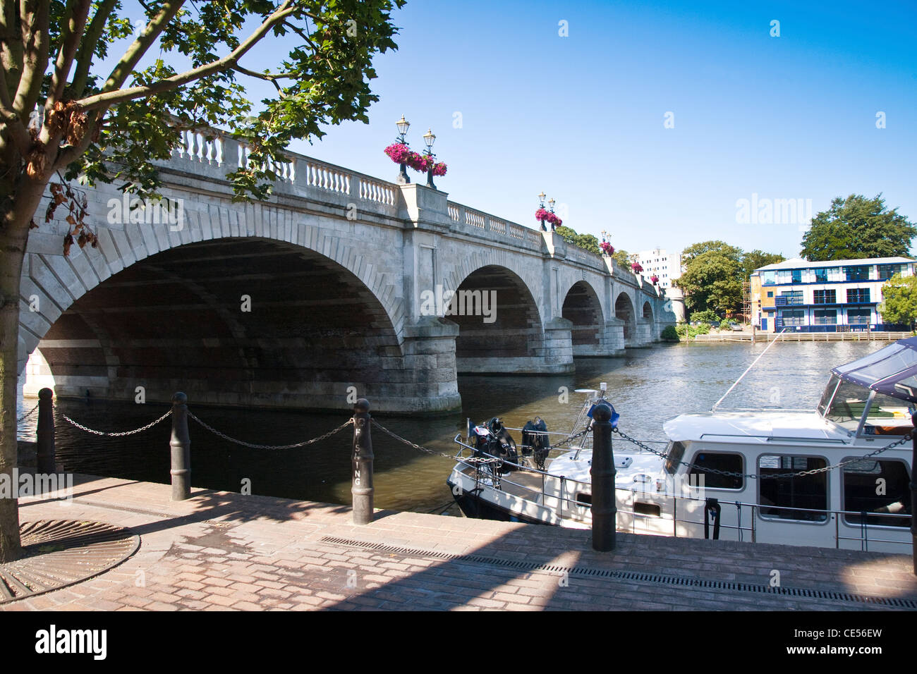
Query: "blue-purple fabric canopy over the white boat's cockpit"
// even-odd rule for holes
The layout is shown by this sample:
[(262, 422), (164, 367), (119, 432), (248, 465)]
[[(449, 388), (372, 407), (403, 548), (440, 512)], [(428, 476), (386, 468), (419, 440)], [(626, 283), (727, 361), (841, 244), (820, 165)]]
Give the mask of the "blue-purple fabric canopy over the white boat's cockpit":
[(917, 403), (917, 337), (899, 339), (831, 371), (844, 381)]

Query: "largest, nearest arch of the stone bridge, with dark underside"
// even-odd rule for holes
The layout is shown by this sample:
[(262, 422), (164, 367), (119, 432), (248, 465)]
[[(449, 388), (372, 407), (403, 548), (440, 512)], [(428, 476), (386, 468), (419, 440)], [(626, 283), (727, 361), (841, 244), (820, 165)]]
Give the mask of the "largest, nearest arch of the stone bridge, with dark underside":
[[(307, 229), (303, 241), (329, 254), (290, 241), (291, 228), (276, 236), (265, 226), (267, 236), (166, 235), (119, 268), (105, 265), (101, 246), (52, 258), (56, 270), (30, 255), (23, 294), (40, 293), (58, 315), (20, 318), (27, 353), (41, 348), (64, 397), (131, 400), (143, 386), (148, 401), (182, 390), (195, 403), (328, 409), (351, 407), (353, 387), (380, 410), (458, 407), (454, 357), (418, 367), (424, 339), (401, 334), (400, 293), (373, 271), (372, 251)], [(70, 286), (77, 292), (54, 293), (47, 272), (68, 268), (94, 274)]]

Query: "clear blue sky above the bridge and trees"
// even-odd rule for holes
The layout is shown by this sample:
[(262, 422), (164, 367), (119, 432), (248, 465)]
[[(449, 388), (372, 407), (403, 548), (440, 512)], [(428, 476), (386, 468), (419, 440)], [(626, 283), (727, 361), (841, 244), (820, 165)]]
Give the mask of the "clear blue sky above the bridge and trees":
[(414, 149), (436, 133), (451, 200), (532, 226), (544, 190), (565, 224), (630, 251), (722, 238), (797, 255), (798, 223), (737, 222), (753, 193), (811, 199), (812, 215), (883, 193), (917, 222), (912, 1), (414, 0), (393, 19), (370, 124), (292, 149), (393, 180), (382, 149), (403, 114)]

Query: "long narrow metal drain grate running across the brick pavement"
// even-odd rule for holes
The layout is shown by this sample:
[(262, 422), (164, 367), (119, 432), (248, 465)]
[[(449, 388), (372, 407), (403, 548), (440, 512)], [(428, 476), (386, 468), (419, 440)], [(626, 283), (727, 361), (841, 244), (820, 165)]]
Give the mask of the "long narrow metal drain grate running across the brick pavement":
[(483, 555), (453, 555), (447, 552), (436, 552), (435, 550), (418, 550), (411, 547), (389, 546), (383, 543), (370, 543), (368, 541), (356, 541), (350, 540), (348, 538), (335, 538), (332, 536), (324, 536), (321, 538), (320, 542), (329, 543), (335, 546), (360, 547), (368, 550), (376, 550), (378, 552), (389, 552), (403, 555), (405, 557), (469, 561), (525, 571), (569, 573), (571, 576), (609, 578), (614, 580), (635, 580), (637, 582), (648, 582), (657, 585), (674, 585), (679, 587), (699, 588), (707, 590), (756, 592), (758, 594), (773, 594), (781, 597), (796, 597), (800, 599), (827, 599), (834, 602), (857, 602), (872, 604), (875, 606), (889, 606), (899, 609), (917, 609), (917, 600), (898, 599), (895, 597), (874, 597), (868, 594), (855, 594), (853, 592), (810, 590), (808, 588), (790, 587), (772, 588), (769, 585), (759, 583), (736, 582), (735, 580), (705, 580), (700, 578), (688, 578), (684, 576), (668, 576), (660, 573), (643, 573), (640, 571), (587, 569), (584, 567), (558, 567), (550, 564), (537, 564), (530, 561), (485, 557)]

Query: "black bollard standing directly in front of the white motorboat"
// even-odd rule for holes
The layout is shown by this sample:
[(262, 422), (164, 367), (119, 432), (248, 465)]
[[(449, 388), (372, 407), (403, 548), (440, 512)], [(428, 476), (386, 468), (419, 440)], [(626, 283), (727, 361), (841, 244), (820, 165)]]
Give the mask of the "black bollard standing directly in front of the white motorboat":
[(614, 503), (612, 408), (598, 403), (592, 412), (592, 549), (614, 549), (617, 507)]

